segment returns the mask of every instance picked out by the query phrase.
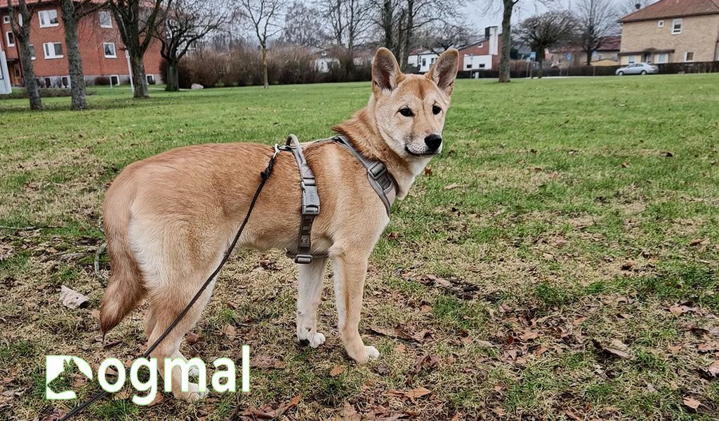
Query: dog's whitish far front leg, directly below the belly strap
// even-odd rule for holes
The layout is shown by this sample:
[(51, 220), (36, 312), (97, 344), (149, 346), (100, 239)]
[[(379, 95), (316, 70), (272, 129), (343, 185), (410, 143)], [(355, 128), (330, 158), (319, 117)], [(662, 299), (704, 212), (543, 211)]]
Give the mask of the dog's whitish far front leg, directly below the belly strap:
[(312, 348), (324, 343), (324, 335), (317, 331), (317, 306), (322, 297), (322, 277), (327, 259), (315, 259), (297, 269), (297, 339), (308, 341)]

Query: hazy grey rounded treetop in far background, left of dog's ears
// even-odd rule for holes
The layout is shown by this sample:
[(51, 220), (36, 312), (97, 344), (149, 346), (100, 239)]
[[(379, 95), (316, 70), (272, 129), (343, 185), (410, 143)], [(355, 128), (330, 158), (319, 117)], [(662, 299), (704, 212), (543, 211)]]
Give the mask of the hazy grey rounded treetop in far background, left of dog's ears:
[(281, 40), (291, 45), (319, 47), (329, 35), (324, 32), (325, 22), (313, 6), (295, 0), (287, 10)]

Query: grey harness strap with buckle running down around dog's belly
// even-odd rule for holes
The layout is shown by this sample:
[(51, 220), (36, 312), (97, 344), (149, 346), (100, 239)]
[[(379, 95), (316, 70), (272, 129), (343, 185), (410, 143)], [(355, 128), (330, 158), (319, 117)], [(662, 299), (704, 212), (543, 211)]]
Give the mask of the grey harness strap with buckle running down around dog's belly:
[[(309, 165), (305, 155), (302, 153), (302, 147), (297, 137), (290, 134), (287, 137), (285, 146), (281, 149), (289, 150), (295, 156), (297, 167), (300, 170), (300, 187), (302, 188), (302, 208), (300, 220), (300, 239), (297, 244), (296, 253), (287, 251), (287, 255), (294, 259), (298, 264), (312, 263), (311, 254), (311, 233), (314, 218), (319, 215), (319, 195), (317, 195), (317, 184), (315, 182), (314, 173)], [(319, 257), (319, 256), (318, 256)]]

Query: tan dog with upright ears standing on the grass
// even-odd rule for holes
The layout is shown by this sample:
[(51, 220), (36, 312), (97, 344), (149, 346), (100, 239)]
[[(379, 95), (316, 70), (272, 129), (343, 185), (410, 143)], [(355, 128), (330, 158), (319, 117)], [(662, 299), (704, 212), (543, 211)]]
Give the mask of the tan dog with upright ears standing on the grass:
[[(334, 127), (367, 158), (381, 160), (404, 198), (431, 157), (441, 152), (441, 132), (457, 76), (457, 50), (444, 52), (426, 75), (406, 75), (392, 53), (380, 48), (372, 65), (367, 107)], [(367, 170), (347, 149), (332, 142), (308, 144), (321, 213), (312, 228), (313, 254), (329, 254), (339, 333), (349, 356), (360, 363), (380, 354), (359, 336), (367, 259), (389, 218), (367, 181)], [(104, 203), (104, 228), (112, 276), (102, 301), (103, 332), (117, 325), (147, 297), (145, 333), (150, 343), (190, 302), (219, 264), (247, 213), (273, 149), (262, 144), (203, 144), (181, 147), (129, 165), (112, 182)], [(298, 241), (300, 177), (291, 153), (278, 155), (238, 245), (289, 248)], [(326, 259), (298, 269), (297, 336), (313, 347)], [(183, 358), (180, 341), (207, 304), (203, 297), (152, 353), (164, 374), (164, 358)], [(180, 383), (175, 367), (173, 385)], [(196, 384), (175, 396), (201, 397)]]

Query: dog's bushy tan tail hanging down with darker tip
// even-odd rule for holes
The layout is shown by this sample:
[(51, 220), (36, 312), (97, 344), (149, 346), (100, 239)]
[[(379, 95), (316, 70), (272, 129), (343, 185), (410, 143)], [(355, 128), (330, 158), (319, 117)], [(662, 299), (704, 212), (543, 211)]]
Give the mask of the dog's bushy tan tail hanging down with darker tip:
[(112, 271), (100, 307), (103, 336), (134, 310), (145, 295), (142, 272), (129, 241), (130, 206), (135, 193), (132, 176), (121, 174), (107, 191), (103, 205), (103, 226)]

